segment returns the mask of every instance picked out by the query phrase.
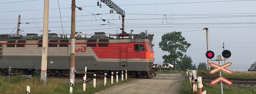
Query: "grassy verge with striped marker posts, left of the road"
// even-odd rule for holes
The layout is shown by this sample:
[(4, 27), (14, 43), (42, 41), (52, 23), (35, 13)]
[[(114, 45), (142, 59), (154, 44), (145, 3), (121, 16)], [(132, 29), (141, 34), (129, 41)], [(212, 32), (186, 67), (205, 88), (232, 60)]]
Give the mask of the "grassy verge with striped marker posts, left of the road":
[[(104, 86), (104, 83), (97, 83), (96, 88), (94, 88), (91, 83), (86, 83), (86, 91), (83, 91), (82, 82), (75, 83), (73, 93), (91, 94), (131, 80), (134, 79), (124, 79), (124, 81), (119, 79), (119, 83), (114, 81), (113, 84), (110, 84), (111, 81), (107, 81), (106, 86)], [(69, 94), (69, 82), (60, 82), (59, 79), (48, 79), (46, 80), (46, 85), (40, 85), (40, 77), (25, 79), (20, 75), (16, 75), (8, 79), (8, 77), (3, 77), (0, 75), (0, 94), (26, 93), (27, 85), (30, 86), (31, 94)]]

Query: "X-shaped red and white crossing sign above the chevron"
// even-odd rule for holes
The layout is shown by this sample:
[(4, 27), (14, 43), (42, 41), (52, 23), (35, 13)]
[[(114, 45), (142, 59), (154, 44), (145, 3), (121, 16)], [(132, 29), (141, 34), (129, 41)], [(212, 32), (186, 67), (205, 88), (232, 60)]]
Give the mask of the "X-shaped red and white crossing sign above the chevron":
[(222, 70), (223, 72), (226, 72), (226, 73), (228, 73), (228, 74), (232, 74), (232, 71), (231, 70), (229, 70), (229, 69), (226, 69), (226, 67), (228, 67), (228, 66), (230, 66), (232, 63), (231, 62), (228, 62), (228, 63), (226, 63), (226, 64), (223, 64), (222, 66), (219, 66), (219, 65), (217, 65), (217, 64), (214, 64), (214, 63), (209, 63), (210, 64), (210, 66), (212, 66), (212, 67), (215, 67), (215, 69), (213, 69), (213, 70), (211, 70), (210, 71), (210, 74), (213, 74), (213, 73), (216, 73), (216, 72), (218, 72), (218, 71), (220, 71), (220, 70)]

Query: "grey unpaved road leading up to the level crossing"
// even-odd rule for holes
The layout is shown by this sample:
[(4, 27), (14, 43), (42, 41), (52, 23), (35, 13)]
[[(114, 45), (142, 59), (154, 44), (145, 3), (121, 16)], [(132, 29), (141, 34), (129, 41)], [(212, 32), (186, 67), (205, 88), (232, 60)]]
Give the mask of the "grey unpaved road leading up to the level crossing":
[(135, 79), (94, 94), (178, 94), (184, 79), (188, 78), (181, 74), (157, 74), (152, 79)]

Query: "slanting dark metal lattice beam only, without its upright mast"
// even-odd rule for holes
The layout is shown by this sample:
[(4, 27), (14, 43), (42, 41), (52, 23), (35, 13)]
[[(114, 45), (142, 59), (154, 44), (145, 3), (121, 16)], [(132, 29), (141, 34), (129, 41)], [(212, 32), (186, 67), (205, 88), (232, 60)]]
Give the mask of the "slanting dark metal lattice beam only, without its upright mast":
[(111, 0), (100, 0), (100, 1), (103, 2), (104, 4), (106, 4), (109, 8), (115, 10), (117, 12), (117, 14), (120, 14), (121, 16), (125, 16), (125, 11), (123, 9), (121, 9), (120, 7), (118, 7)]

